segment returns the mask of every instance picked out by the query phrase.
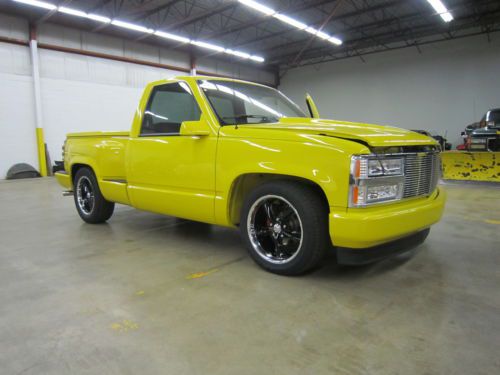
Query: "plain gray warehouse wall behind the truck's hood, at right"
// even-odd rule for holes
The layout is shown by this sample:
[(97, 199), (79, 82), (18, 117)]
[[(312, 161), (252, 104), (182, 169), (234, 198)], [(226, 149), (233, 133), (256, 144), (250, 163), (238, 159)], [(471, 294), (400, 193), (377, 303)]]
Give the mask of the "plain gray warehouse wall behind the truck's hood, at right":
[(460, 132), (500, 107), (500, 33), (289, 70), (280, 90), (321, 117), (426, 129), (455, 147)]

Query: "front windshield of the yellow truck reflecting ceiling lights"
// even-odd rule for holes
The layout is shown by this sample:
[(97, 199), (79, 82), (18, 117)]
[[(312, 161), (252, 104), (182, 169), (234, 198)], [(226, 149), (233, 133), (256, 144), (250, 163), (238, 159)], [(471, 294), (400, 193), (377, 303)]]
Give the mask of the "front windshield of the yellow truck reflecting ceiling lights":
[(278, 90), (250, 83), (201, 80), (199, 86), (221, 125), (278, 122), (281, 117), (307, 117)]

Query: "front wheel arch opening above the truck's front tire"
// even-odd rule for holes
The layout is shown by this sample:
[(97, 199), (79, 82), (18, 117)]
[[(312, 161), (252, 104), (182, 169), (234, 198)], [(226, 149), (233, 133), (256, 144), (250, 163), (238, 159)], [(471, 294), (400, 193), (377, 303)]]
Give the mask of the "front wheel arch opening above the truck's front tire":
[(330, 205), (328, 203), (328, 198), (325, 194), (325, 191), (315, 181), (312, 181), (304, 177), (287, 175), (287, 174), (245, 173), (239, 175), (233, 181), (231, 189), (229, 191), (228, 218), (232, 225), (239, 224), (243, 202), (245, 201), (248, 194), (257, 186), (269, 181), (292, 182), (310, 187), (312, 190), (315, 191), (316, 194), (318, 194), (318, 196), (320, 196), (325, 209), (327, 210), (327, 212), (329, 212)]

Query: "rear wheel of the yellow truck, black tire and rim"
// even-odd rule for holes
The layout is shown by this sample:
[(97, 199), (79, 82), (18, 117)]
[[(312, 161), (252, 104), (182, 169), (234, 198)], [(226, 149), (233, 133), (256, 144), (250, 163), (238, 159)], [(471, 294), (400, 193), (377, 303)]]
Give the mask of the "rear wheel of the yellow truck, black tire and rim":
[(94, 172), (87, 167), (80, 168), (74, 179), (74, 199), (78, 214), (89, 224), (104, 223), (115, 209), (101, 194)]

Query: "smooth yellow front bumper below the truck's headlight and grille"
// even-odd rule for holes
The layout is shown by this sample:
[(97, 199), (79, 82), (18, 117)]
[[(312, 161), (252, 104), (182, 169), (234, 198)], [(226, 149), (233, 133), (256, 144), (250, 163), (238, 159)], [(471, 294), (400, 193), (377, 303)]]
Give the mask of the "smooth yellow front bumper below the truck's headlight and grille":
[(437, 188), (429, 197), (367, 208), (330, 212), (330, 238), (334, 246), (369, 248), (408, 237), (441, 219), (446, 194)]

